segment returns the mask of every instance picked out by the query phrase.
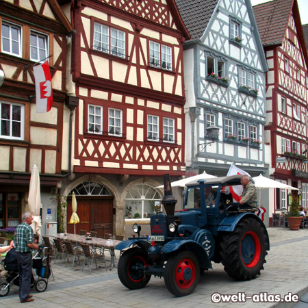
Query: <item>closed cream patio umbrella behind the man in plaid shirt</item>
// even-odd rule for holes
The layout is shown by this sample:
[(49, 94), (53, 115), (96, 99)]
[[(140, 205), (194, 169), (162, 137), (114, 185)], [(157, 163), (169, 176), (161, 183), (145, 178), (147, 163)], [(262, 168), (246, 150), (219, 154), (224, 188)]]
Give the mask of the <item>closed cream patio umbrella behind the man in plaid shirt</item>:
[(40, 235), (40, 174), (38, 173), (38, 166), (34, 165), (31, 170), (29, 196), (28, 196), (29, 211), (33, 216), (31, 224), (34, 233)]

